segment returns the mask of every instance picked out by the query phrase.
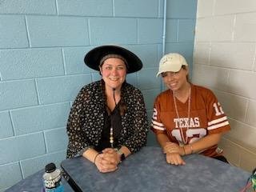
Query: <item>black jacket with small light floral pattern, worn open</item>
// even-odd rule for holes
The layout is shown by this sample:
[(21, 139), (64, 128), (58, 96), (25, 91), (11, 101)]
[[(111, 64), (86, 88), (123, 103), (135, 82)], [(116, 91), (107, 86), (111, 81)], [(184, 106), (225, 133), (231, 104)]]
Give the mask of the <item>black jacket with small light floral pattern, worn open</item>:
[[(101, 81), (92, 82), (80, 90), (70, 110), (67, 122), (69, 137), (67, 158), (82, 154), (87, 147), (98, 146), (104, 126), (105, 99)], [(140, 90), (126, 83), (122, 90), (126, 112), (122, 115), (119, 146), (126, 146), (131, 153), (146, 145), (149, 124), (146, 107)]]

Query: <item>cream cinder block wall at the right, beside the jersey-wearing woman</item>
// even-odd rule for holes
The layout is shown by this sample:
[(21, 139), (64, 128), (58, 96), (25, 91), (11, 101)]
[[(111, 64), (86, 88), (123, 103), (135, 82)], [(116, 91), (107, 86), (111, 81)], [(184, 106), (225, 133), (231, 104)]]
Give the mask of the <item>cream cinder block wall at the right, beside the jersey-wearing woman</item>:
[(198, 0), (193, 82), (214, 90), (229, 116), (226, 157), (256, 166), (256, 1)]

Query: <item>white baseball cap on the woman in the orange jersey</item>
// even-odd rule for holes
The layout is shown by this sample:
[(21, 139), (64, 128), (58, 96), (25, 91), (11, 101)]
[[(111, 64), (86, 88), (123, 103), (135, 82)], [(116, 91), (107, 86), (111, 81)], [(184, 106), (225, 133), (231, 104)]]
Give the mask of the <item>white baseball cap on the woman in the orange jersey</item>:
[(170, 53), (164, 55), (159, 62), (159, 70), (158, 74), (162, 74), (163, 72), (171, 71), (178, 72), (181, 70), (182, 66), (188, 66), (186, 63), (186, 59), (177, 53)]

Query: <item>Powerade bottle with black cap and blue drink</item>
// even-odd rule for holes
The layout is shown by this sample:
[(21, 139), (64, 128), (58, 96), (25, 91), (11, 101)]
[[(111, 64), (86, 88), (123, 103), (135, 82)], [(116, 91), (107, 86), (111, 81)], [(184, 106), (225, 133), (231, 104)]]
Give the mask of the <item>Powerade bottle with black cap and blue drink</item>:
[(46, 192), (63, 192), (61, 170), (56, 169), (54, 162), (46, 165), (46, 172), (42, 175), (44, 191)]

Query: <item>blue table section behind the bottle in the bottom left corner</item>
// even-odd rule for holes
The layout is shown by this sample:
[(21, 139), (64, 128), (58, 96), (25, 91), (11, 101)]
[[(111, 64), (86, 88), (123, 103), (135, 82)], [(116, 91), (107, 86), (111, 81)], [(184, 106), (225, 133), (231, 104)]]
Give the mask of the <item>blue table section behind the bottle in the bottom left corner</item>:
[[(16, 185), (11, 186), (5, 192), (42, 192), (42, 174), (44, 170), (39, 170), (37, 173), (22, 179)], [(63, 185), (65, 192), (74, 192), (70, 185), (63, 178)]]

